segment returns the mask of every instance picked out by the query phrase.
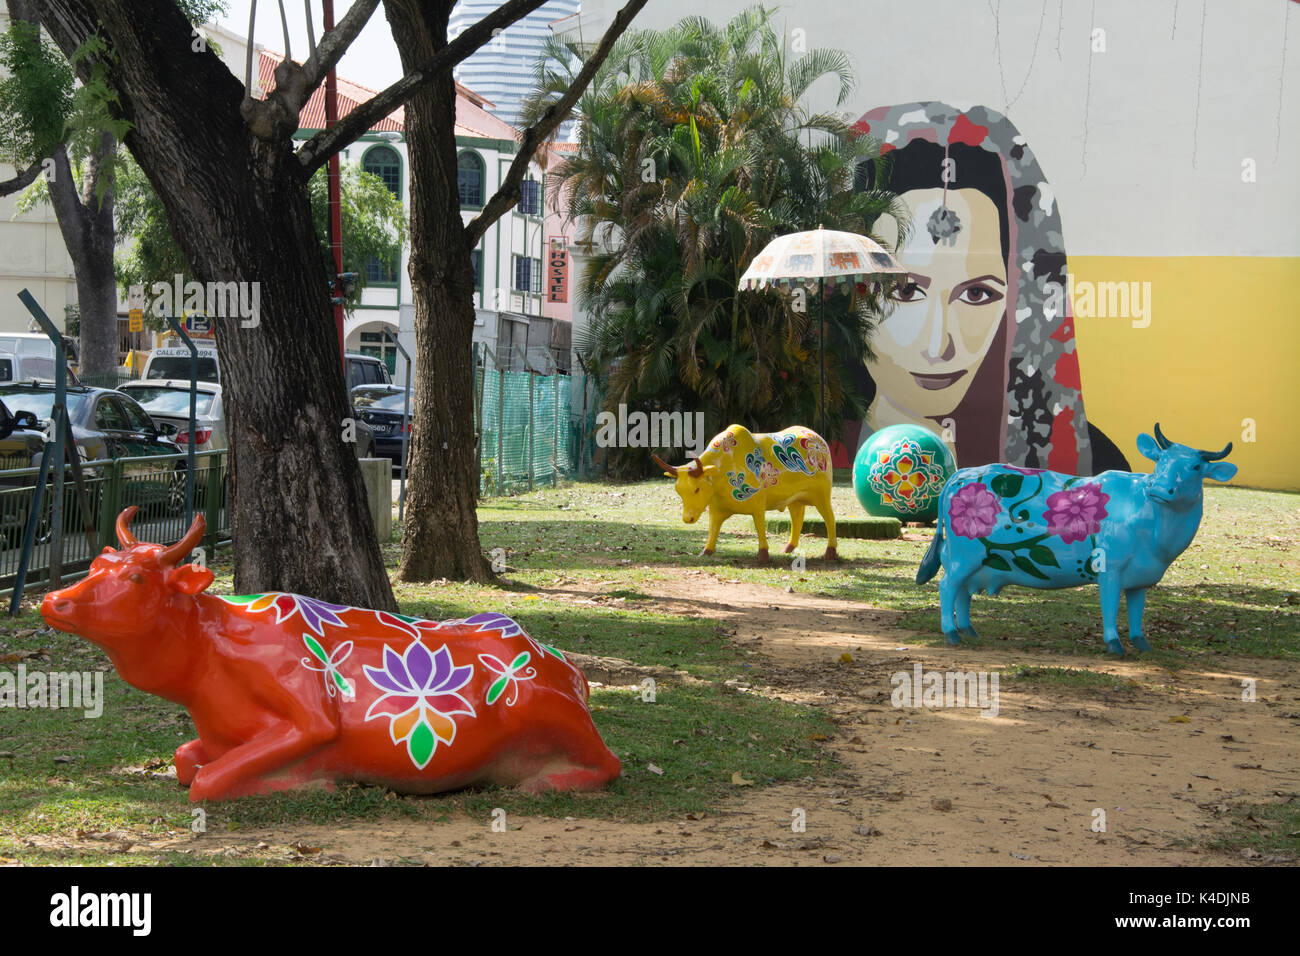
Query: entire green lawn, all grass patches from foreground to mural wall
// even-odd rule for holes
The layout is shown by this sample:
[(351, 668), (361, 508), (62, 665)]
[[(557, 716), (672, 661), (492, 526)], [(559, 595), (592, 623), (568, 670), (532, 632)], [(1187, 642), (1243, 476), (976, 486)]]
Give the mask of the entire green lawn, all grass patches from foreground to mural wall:
[[(1200, 535), (1148, 598), (1147, 633), (1156, 648), (1148, 657), (1169, 669), (1225, 653), (1296, 659), (1300, 561), (1294, 542), (1300, 537), (1300, 497), (1208, 488), (1205, 501)], [(835, 503), (841, 515), (861, 514), (848, 484), (837, 484)], [(738, 792), (733, 774), (753, 780), (754, 787), (832, 775), (836, 763), (818, 743), (829, 727), (819, 709), (728, 685), (728, 680), (744, 680), (750, 663), (728, 640), (724, 626), (658, 613), (646, 600), (649, 583), (677, 576), (682, 568), (894, 609), (904, 613), (902, 626), (922, 633), (920, 641), (942, 641), (937, 588), (913, 581), (928, 544), (926, 529), (909, 529), (913, 540), (841, 538), (838, 566), (820, 562), (823, 540), (805, 537), (801, 551), (809, 566), (793, 572), (790, 557), (780, 554), (784, 538), (777, 536), (771, 541), (772, 566), (755, 566), (757, 538), (744, 518), (727, 524), (716, 555), (698, 557), (706, 528), (681, 523), (679, 499), (667, 480), (576, 483), (488, 499), (480, 522), (484, 548), (500, 549), (504, 557), (502, 583), (398, 584), (402, 610), (434, 619), (498, 610), (562, 650), (684, 671), (689, 678), (659, 685), (653, 705), (644, 704), (632, 687), (593, 692), (595, 723), (623, 760), (624, 777), (601, 793), (543, 797), (493, 790), (398, 797), (359, 786), (282, 793), (208, 808), (209, 829), (387, 817), (437, 822), (454, 812), (486, 818), (495, 806), (550, 817), (649, 821), (718, 808)], [(395, 566), (396, 535), (385, 553)], [(213, 591), (229, 593), (230, 568), (221, 562), (218, 555)], [(564, 593), (567, 585), (580, 585), (582, 594)], [(597, 598), (589, 593), (593, 585), (601, 592)], [(124, 684), (90, 644), (44, 630), (34, 604), (26, 604), (20, 618), (0, 623), (0, 669), (13, 671), (23, 663), (29, 670), (103, 670), (104, 717), (87, 721), (72, 710), (0, 710), (0, 861), (194, 862), (177, 852), (126, 855), (109, 843), (103, 849), (49, 849), (40, 839), (77, 831), (187, 834), (192, 821), (187, 795), (160, 771), (170, 765), (173, 749), (194, 736), (194, 728), (179, 706)], [(1096, 588), (1045, 593), (1013, 588), (998, 598), (979, 597), (972, 606), (984, 640), (1102, 657)], [(1053, 667), (1022, 669), (1014, 679), (1078, 685), (1114, 682), (1091, 671)], [(1243, 823), (1239, 845), (1254, 845), (1249, 840), (1262, 832), (1262, 819), (1265, 810)], [(231, 862), (250, 861), (283, 862), (256, 856)]]

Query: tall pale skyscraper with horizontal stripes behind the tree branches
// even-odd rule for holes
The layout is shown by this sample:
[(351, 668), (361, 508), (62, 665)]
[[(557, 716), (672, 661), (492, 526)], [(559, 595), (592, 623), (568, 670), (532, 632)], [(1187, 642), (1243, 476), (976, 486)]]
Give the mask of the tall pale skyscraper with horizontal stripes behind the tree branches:
[[(493, 0), (462, 0), (451, 12), (447, 38), (459, 36), (498, 7)], [(520, 105), (533, 91), (537, 56), (550, 34), (550, 25), (572, 17), (580, 7), (581, 0), (542, 4), (462, 61), (454, 70), (456, 82), (486, 96), (495, 104), (491, 109), (495, 116), (517, 126)], [(558, 138), (568, 139), (572, 126), (572, 122), (560, 126)]]

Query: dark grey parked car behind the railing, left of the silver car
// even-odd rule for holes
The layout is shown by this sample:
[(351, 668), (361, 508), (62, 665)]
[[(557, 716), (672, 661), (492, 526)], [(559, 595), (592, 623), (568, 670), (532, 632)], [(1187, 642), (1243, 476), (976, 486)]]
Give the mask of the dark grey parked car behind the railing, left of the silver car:
[[(135, 399), (113, 389), (70, 385), (65, 401), (82, 460), (127, 459), (124, 505), (161, 506), (172, 514), (185, 507), (185, 460), (166, 468), (160, 468), (157, 462), (131, 460), (183, 451), (159, 432)], [(44, 421), (55, 406), (55, 386), (42, 382), (0, 385), (0, 402), (18, 410), (16, 415), (26, 411)], [(94, 468), (90, 472), (94, 476)]]

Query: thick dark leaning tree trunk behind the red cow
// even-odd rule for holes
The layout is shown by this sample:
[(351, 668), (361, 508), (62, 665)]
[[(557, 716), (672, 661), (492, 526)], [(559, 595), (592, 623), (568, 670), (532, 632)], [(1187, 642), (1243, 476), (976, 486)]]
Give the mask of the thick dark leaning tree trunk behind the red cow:
[[(96, 31), (124, 142), (157, 190), (199, 282), (243, 284), (254, 317), (216, 317), (229, 420), (235, 589), (394, 610), (370, 524), (302, 165), (259, 139), (243, 85), (170, 0), (43, 0), (65, 55)], [(78, 64), (83, 82), (88, 62)], [(151, 290), (146, 290), (151, 294)], [(152, 298), (152, 295), (151, 295)], [(228, 307), (228, 312), (235, 312)], [(251, 310), (250, 310), (251, 311)]]

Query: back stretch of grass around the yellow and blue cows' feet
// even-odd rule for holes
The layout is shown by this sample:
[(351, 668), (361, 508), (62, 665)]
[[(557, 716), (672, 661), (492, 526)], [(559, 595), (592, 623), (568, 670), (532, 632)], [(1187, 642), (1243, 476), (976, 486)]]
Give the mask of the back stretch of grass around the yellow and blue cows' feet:
[[(848, 516), (861, 514), (846, 481), (836, 483), (835, 509)], [(919, 631), (922, 643), (944, 640), (937, 580), (915, 584), (933, 533), (928, 528), (910, 528), (915, 540), (840, 538), (838, 567), (816, 561), (826, 549), (823, 538), (805, 537), (800, 551), (810, 566), (796, 574), (790, 555), (780, 554), (784, 538), (772, 535), (772, 566), (755, 566), (758, 538), (745, 516), (723, 527), (715, 555), (699, 557), (707, 529), (681, 523), (679, 498), (667, 480), (573, 484), (493, 498), (478, 514), (484, 548), (504, 550), (507, 576), (521, 588), (580, 576), (634, 592), (641, 581), (705, 568), (723, 578), (788, 584), (905, 611), (901, 624)], [(1300, 496), (1208, 486), (1196, 540), (1148, 593), (1144, 627), (1154, 648), (1148, 657), (1169, 667), (1222, 653), (1300, 659), (1297, 538)], [(526, 605), (515, 609), (524, 617), (529, 611)], [(1105, 652), (1096, 587), (982, 594), (971, 602), (971, 622), (984, 640), (1062, 653)]]

